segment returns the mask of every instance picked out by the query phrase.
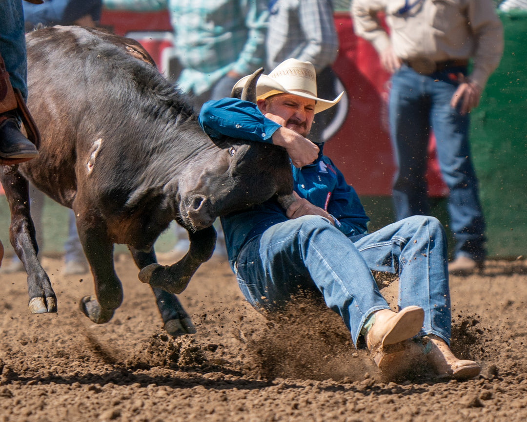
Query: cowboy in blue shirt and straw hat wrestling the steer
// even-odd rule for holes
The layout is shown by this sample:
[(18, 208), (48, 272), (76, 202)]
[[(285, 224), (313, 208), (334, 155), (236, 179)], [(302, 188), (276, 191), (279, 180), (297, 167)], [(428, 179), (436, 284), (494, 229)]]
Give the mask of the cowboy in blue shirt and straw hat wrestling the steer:
[[(273, 198), (221, 217), (229, 262), (247, 301), (276, 311), (291, 296), (314, 292), (340, 314), (355, 346), (364, 335), (382, 371), (393, 374), (412, 364), (400, 350), (416, 336), (417, 342), (427, 341), (419, 352), (426, 352), (438, 375), (477, 376), (480, 366), (458, 360), (448, 347), (451, 309), (442, 225), (433, 217), (414, 216), (368, 234), (369, 218), (353, 187), (323, 155), (324, 145), (306, 148), (310, 142), (302, 137), (315, 114), (342, 94), (335, 100), (318, 98), (314, 66), (288, 59), (260, 76), (256, 95), (257, 104), (209, 101), (199, 118), (212, 138), (285, 143), (291, 158), (296, 201), (287, 210)], [(284, 129), (302, 137), (284, 142)], [(399, 276), (398, 312), (379, 292), (372, 270)]]

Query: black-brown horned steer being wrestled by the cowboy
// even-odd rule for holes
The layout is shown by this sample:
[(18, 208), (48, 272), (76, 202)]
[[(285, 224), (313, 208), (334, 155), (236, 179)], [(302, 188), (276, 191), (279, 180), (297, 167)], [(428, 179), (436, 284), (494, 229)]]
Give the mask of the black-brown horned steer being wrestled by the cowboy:
[[(75, 212), (95, 284), (95, 296), (80, 304), (87, 317), (108, 322), (122, 302), (113, 266), (113, 244), (121, 243), (139, 268), (148, 267), (140, 278), (152, 286), (165, 329), (194, 332), (173, 293), (210, 258), (216, 217), (292, 193), (285, 149), (237, 139), (214, 143), (131, 39), (55, 26), (28, 34), (27, 52), (39, 155), (0, 172), (31, 312), (56, 312), (57, 303), (37, 260), (28, 181)], [(161, 266), (153, 244), (174, 219), (188, 230), (190, 248), (179, 262)]]

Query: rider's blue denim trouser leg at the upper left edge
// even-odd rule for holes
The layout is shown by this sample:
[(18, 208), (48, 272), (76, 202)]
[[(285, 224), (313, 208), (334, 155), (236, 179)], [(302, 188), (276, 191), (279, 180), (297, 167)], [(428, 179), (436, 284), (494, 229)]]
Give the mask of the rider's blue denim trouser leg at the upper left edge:
[(27, 53), (22, 0), (4, 0), (0, 13), (0, 53), (13, 88), (27, 100)]

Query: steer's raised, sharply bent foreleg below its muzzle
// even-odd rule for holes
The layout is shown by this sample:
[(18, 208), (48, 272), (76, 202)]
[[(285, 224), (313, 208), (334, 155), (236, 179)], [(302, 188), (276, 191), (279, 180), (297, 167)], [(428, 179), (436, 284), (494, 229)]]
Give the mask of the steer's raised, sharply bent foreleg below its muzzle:
[(216, 230), (211, 226), (198, 232), (189, 232), (189, 240), (189, 251), (181, 260), (172, 265), (147, 265), (139, 272), (139, 280), (169, 293), (179, 294), (185, 290), (198, 267), (212, 256)]

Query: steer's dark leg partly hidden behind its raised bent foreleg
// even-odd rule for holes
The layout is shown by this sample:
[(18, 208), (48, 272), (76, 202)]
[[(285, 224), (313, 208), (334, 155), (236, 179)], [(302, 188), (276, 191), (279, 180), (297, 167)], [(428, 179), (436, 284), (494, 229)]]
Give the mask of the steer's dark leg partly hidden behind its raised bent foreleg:
[[(140, 269), (147, 265), (157, 263), (153, 248), (150, 251), (138, 251), (130, 245), (128, 245), (128, 248), (132, 253), (135, 264)], [(190, 315), (183, 309), (175, 294), (165, 292), (159, 289), (159, 287), (152, 287), (152, 291), (154, 292), (155, 301), (161, 313), (161, 318), (163, 319), (165, 331), (172, 335), (172, 337), (196, 332)]]

